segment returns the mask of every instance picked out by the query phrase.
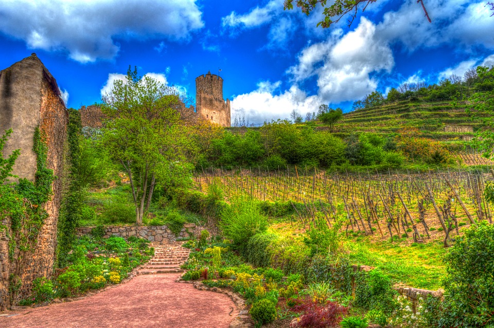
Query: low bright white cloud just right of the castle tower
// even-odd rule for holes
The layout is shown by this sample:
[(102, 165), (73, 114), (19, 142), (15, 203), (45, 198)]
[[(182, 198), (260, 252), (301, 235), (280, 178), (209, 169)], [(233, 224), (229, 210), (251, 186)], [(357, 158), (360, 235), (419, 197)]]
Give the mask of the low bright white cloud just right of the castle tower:
[(260, 82), (253, 92), (235, 96), (231, 101), (232, 117), (245, 116), (250, 122), (262, 123), (278, 118), (288, 119), (293, 110), (298, 110), (303, 115), (307, 112), (317, 112), (322, 103), (319, 97), (307, 96), (295, 85), (280, 95), (273, 95), (280, 84), (280, 81)]

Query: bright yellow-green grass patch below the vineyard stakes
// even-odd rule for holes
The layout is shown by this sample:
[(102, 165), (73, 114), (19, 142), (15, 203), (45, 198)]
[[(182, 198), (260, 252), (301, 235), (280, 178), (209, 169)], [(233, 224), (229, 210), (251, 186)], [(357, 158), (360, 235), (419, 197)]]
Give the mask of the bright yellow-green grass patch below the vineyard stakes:
[(442, 287), (446, 268), (443, 256), (446, 250), (441, 243), (348, 243), (352, 264), (368, 265), (381, 269), (394, 283), (415, 288), (435, 290)]

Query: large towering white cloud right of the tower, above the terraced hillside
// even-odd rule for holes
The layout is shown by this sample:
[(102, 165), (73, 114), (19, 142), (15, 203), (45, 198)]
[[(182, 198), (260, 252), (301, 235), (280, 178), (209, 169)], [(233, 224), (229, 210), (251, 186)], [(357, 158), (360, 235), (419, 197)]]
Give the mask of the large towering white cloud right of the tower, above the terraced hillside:
[(355, 31), (342, 33), (333, 31), (326, 41), (305, 48), (298, 64), (288, 70), (295, 81), (317, 76), (319, 96), (325, 103), (364, 97), (377, 88), (378, 81), (370, 74), (394, 66), (391, 48), (378, 38), (372, 22), (362, 17)]

